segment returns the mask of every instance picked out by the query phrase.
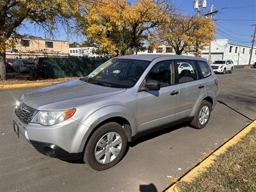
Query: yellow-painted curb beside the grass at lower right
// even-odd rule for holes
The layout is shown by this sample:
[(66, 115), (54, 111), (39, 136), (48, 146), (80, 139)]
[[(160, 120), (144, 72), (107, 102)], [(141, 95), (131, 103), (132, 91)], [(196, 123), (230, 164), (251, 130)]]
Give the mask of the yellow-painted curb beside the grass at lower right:
[[(191, 182), (196, 177), (198, 177), (201, 173), (203, 173), (207, 168), (211, 166), (212, 163), (214, 163), (214, 160), (216, 157), (220, 156), (220, 154), (223, 154), (227, 148), (232, 147), (235, 145), (238, 141), (240, 141), (248, 132), (250, 132), (253, 127), (256, 127), (256, 120), (254, 120), (251, 124), (247, 125), (239, 131), (235, 136), (230, 138), (226, 143), (221, 145), (221, 147), (217, 148), (211, 155), (206, 157), (203, 161), (201, 161), (199, 164), (197, 164), (194, 168), (189, 170), (189, 172), (185, 173), (180, 179), (177, 180), (177, 182)], [(168, 192), (179, 192), (179, 189), (177, 188), (177, 182), (173, 183), (171, 186), (169, 186), (166, 191)]]

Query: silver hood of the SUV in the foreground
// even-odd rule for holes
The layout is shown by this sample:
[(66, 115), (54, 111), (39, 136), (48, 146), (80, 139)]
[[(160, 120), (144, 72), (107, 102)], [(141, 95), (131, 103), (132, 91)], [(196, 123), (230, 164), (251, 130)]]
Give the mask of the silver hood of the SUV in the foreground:
[(125, 88), (110, 88), (80, 80), (66, 81), (22, 95), (21, 100), (33, 109), (60, 111), (76, 108), (92, 100), (124, 92)]

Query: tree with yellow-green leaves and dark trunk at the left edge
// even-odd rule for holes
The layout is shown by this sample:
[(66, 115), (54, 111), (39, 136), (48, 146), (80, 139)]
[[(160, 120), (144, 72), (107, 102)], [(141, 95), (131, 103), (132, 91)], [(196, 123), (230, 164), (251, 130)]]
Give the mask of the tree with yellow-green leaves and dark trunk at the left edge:
[(53, 29), (56, 20), (77, 15), (79, 4), (74, 0), (0, 0), (0, 79), (6, 78), (5, 50), (19, 38), (17, 29), (24, 20)]

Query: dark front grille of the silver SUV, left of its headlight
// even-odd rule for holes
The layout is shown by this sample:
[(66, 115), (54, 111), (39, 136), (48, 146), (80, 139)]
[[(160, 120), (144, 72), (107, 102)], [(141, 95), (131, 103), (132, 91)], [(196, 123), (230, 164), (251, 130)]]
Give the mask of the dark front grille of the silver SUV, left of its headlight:
[(20, 102), (20, 105), (15, 109), (16, 115), (19, 117), (22, 122), (28, 124), (31, 122), (31, 119), (35, 113), (35, 109), (29, 108), (23, 102)]

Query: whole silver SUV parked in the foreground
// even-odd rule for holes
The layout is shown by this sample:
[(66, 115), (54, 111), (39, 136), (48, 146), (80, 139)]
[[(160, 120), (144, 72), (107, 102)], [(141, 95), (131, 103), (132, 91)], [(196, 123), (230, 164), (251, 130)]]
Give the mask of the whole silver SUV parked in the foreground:
[(22, 95), (13, 129), (42, 154), (83, 158), (105, 170), (145, 132), (182, 120), (205, 127), (217, 95), (218, 79), (205, 59), (121, 56), (85, 78)]

